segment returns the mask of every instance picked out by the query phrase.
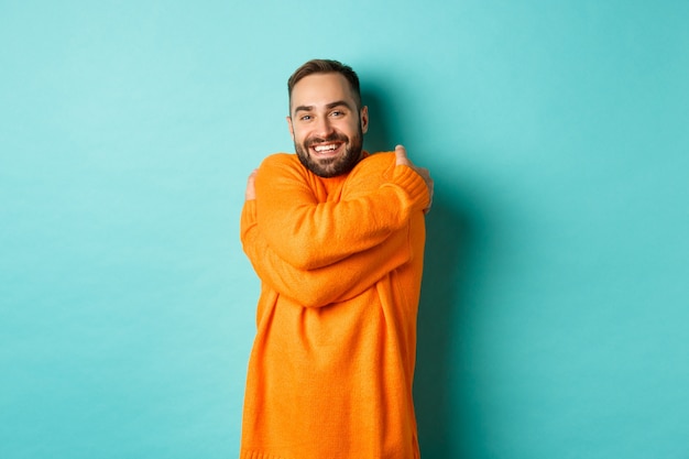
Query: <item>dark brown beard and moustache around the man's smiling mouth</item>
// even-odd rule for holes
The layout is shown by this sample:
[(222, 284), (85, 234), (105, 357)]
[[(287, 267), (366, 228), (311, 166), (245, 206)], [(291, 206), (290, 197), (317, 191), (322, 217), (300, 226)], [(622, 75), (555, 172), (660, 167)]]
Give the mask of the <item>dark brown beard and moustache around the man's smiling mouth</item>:
[[(344, 145), (344, 152), (336, 157), (313, 157), (310, 153), (310, 149), (313, 145), (317, 145), (319, 143), (329, 143), (329, 142), (342, 142)], [(298, 144), (294, 142), (294, 149), (297, 153), (297, 157), (304, 165), (304, 167), (308, 168), (314, 174), (319, 177), (329, 178), (337, 177), (338, 175), (343, 175), (349, 173), (357, 163), (361, 160), (361, 151), (363, 144), (363, 132), (361, 131), (361, 127), (356, 135), (351, 139), (344, 134), (332, 133), (327, 138), (310, 138), (306, 139), (303, 144)]]

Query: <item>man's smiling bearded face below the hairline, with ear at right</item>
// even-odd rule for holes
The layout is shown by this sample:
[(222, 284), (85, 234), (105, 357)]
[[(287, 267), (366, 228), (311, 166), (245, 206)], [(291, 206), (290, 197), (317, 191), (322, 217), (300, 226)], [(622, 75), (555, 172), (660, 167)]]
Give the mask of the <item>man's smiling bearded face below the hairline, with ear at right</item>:
[(347, 174), (361, 160), (369, 112), (367, 107), (357, 109), (340, 74), (302, 78), (292, 89), (287, 123), (299, 161), (318, 176)]

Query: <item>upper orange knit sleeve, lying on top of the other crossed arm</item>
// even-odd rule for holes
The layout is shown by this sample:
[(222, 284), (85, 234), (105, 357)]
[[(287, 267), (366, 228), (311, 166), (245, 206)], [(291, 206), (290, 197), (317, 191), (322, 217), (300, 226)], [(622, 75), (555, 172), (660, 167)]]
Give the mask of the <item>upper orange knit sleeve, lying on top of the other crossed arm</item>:
[(256, 218), (276, 255), (297, 269), (325, 267), (376, 247), (428, 203), (424, 179), (395, 166), (394, 154), (361, 161), (348, 177), (358, 186), (326, 203), (315, 196), (313, 177), (289, 156), (269, 156), (259, 168)]

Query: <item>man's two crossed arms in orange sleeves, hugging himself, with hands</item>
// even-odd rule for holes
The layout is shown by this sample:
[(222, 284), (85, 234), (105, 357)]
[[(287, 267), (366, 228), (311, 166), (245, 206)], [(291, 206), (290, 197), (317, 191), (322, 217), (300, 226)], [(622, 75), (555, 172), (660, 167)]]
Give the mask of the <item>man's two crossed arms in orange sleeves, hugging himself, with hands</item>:
[[(392, 165), (393, 182), (364, 175), (352, 196), (338, 203), (318, 203), (304, 177), (291, 177), (289, 171), (266, 174), (277, 183), (262, 184), (259, 175), (256, 193), (254, 172), (241, 239), (259, 277), (280, 294), (317, 307), (357, 296), (407, 263), (413, 256), (408, 214), (427, 211), (433, 181), (404, 149), (397, 149)], [(370, 188), (362, 190), (363, 184)], [(269, 189), (270, 197), (261, 193)]]

